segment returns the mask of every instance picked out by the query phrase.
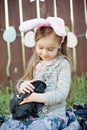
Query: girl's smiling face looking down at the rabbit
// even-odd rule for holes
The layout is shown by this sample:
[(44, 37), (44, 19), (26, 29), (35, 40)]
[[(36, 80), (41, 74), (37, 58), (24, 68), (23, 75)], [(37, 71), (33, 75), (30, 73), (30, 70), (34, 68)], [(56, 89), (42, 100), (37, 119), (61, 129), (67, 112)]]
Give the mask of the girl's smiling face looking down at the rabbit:
[(57, 57), (59, 44), (53, 34), (45, 36), (36, 42), (37, 55), (43, 61), (50, 61)]

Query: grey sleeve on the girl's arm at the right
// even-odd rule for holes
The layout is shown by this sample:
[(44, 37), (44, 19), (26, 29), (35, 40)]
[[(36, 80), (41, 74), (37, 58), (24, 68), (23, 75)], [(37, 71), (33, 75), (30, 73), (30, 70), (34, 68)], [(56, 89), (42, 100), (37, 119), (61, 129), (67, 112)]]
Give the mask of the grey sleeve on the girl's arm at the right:
[(56, 89), (46, 92), (46, 105), (61, 103), (66, 100), (71, 84), (71, 69), (69, 61), (65, 60), (60, 63), (58, 74), (58, 81)]

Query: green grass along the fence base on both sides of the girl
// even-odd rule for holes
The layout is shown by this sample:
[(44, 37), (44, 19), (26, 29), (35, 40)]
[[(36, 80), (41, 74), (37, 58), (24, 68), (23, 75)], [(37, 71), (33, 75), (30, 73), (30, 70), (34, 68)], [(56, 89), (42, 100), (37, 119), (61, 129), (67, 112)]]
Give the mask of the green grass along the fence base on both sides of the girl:
[[(10, 113), (10, 99), (14, 95), (13, 87), (3, 86), (0, 90), (0, 115), (8, 115)], [(71, 84), (71, 93), (67, 99), (67, 107), (72, 104), (87, 103), (87, 73), (82, 76), (74, 76)]]

